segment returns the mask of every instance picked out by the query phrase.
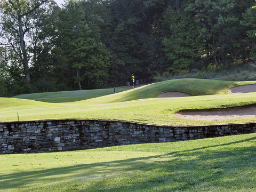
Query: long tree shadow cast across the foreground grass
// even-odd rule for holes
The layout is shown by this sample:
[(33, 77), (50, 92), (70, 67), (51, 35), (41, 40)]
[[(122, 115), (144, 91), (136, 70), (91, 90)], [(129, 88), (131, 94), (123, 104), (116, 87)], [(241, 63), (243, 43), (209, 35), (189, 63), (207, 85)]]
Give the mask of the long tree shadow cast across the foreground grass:
[(255, 191), (256, 146), (237, 145), (249, 141), (256, 137), (166, 155), (6, 174), (0, 189), (26, 190), (30, 182), (43, 182), (54, 190), (51, 182), (57, 180), (63, 188), (67, 181), (86, 183), (76, 191)]

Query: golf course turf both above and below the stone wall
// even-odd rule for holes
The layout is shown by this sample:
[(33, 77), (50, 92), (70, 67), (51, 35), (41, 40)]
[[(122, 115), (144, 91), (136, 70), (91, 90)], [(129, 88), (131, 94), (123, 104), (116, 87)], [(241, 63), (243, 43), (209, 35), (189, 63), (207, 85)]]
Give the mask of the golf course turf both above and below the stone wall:
[[(230, 93), (256, 82), (175, 79), (133, 89), (82, 90), (0, 98), (0, 121), (105, 119), (155, 125), (256, 122), (239, 110), (256, 93)], [(157, 98), (163, 93), (188, 97)], [(179, 113), (235, 109), (237, 118), (199, 120)], [(238, 112), (237, 112), (238, 111)], [(225, 114), (222, 116), (225, 116)], [(0, 155), (0, 191), (255, 191), (256, 134), (79, 151)]]

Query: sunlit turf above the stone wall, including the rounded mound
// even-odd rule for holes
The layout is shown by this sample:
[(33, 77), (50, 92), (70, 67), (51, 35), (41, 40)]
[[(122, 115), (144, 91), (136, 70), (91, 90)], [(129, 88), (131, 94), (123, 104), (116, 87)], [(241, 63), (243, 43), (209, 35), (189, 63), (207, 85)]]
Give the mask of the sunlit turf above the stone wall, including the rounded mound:
[[(59, 118), (117, 119), (161, 125), (255, 122), (255, 117), (221, 121), (199, 121), (181, 119), (173, 116), (174, 113), (180, 110), (218, 109), (254, 105), (256, 104), (256, 93), (203, 95), (207, 93), (227, 93), (228, 89), (232, 86), (252, 83), (256, 82), (176, 79), (93, 99), (65, 103), (47, 103), (33, 100), (1, 98), (0, 121), (17, 121), (17, 113), (19, 113), (21, 121)], [(173, 88), (174, 86), (176, 86), (175, 89)], [(215, 89), (214, 87), (216, 86), (222, 88)], [(159, 93), (166, 91), (186, 91), (192, 95), (202, 96), (155, 98)], [(135, 98), (134, 101), (133, 98)]]

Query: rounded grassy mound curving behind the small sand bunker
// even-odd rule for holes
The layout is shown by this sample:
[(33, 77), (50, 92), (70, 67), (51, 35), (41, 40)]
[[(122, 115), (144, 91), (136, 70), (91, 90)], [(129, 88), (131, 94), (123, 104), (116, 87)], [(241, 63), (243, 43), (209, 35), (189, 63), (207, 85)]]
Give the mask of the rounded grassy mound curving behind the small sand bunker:
[(209, 79), (174, 79), (164, 82), (153, 83), (145, 86), (128, 90), (117, 94), (106, 95), (104, 97), (88, 100), (88, 103), (101, 104), (132, 101), (138, 99), (156, 98), (161, 93), (177, 91), (188, 93), (193, 96), (227, 94), (231, 87), (247, 84), (256, 84), (256, 82), (231, 82)]

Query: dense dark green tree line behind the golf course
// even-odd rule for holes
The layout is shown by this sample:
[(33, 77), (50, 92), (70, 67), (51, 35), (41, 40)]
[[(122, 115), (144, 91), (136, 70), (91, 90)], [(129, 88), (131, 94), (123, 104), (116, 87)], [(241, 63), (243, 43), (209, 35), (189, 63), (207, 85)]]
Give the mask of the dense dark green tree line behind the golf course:
[(0, 0), (0, 96), (256, 61), (254, 0)]

